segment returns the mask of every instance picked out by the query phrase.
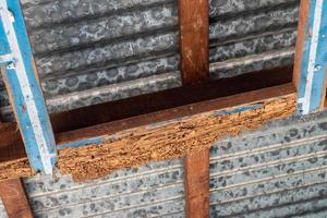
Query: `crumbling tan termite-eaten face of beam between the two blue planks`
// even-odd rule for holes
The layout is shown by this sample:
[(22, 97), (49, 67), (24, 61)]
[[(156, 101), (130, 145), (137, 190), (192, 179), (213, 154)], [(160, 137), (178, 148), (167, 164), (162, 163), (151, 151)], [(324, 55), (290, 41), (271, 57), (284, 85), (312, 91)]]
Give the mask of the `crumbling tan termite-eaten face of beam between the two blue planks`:
[(257, 129), (263, 123), (286, 118), (295, 111), (295, 94), (267, 100), (255, 110), (215, 116), (196, 114), (160, 126), (143, 126), (117, 133), (101, 145), (59, 150), (58, 168), (76, 181), (96, 179), (113, 170), (137, 167), (150, 160), (183, 157), (227, 135)]

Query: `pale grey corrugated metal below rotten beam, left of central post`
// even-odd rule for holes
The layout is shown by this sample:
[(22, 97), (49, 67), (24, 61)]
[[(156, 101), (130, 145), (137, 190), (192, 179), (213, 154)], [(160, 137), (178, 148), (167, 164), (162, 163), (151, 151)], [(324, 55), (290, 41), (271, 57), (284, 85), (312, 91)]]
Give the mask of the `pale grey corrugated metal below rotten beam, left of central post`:
[(25, 179), (35, 217), (184, 217), (181, 160), (152, 162), (85, 183)]

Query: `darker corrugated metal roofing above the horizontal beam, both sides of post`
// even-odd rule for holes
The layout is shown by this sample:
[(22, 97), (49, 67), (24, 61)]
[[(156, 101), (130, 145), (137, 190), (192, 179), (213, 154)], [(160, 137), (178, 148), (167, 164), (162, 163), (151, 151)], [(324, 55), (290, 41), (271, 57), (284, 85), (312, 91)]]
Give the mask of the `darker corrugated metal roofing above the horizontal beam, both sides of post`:
[[(21, 1), (51, 112), (181, 85), (177, 0)], [(292, 63), (299, 0), (209, 5), (213, 78)]]

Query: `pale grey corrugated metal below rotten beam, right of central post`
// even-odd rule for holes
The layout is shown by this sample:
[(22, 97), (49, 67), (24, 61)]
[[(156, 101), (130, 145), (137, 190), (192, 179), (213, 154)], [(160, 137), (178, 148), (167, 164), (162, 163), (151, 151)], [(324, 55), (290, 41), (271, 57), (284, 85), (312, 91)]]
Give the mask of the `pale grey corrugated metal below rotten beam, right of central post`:
[(217, 143), (210, 217), (326, 217), (327, 111)]

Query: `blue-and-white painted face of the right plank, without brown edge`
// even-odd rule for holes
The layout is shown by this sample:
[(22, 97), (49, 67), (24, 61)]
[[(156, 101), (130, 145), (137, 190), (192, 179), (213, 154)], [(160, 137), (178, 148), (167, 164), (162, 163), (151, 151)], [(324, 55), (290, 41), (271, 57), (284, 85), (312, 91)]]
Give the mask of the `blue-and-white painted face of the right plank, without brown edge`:
[(319, 109), (327, 72), (327, 0), (310, 0), (302, 51), (298, 113)]

